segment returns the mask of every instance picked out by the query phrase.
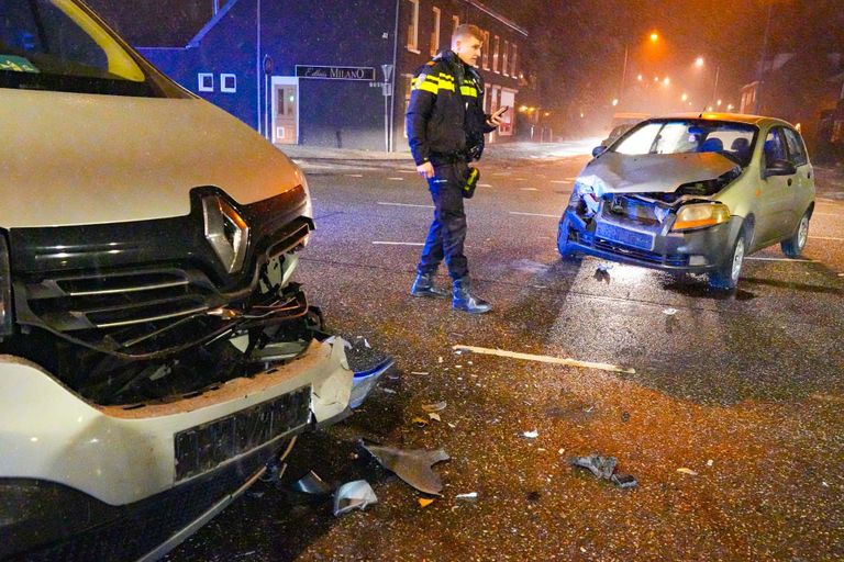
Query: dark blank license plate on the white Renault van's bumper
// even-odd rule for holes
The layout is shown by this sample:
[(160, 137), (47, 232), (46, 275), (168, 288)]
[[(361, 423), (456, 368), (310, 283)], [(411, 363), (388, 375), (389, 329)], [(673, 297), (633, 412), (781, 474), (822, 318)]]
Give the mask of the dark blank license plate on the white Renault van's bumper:
[(174, 436), (176, 480), (218, 465), (308, 423), (311, 389), (306, 386)]

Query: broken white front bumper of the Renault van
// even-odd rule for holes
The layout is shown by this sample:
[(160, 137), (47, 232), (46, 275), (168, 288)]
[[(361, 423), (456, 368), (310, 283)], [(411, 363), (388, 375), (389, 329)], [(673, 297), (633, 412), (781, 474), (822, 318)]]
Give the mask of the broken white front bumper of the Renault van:
[(145, 560), (143, 544), (159, 544), (157, 559), (245, 491), (293, 436), (351, 413), (340, 338), (314, 339), (293, 361), (196, 396), (144, 405), (96, 405), (31, 361), (0, 363), (3, 560)]

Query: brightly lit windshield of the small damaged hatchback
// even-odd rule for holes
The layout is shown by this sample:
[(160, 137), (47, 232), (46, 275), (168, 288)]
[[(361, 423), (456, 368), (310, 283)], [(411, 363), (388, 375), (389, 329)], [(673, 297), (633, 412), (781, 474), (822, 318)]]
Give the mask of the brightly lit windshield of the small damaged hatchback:
[(611, 148), (626, 155), (718, 153), (746, 167), (758, 128), (745, 123), (711, 120), (649, 121)]

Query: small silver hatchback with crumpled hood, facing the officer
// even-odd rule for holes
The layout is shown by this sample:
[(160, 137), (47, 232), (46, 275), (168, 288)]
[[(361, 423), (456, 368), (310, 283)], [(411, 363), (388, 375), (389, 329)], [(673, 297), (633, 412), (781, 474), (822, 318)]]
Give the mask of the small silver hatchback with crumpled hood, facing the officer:
[(796, 258), (814, 211), (800, 133), (771, 117), (651, 119), (597, 147), (559, 223), (557, 247), (735, 288), (745, 256), (779, 244)]

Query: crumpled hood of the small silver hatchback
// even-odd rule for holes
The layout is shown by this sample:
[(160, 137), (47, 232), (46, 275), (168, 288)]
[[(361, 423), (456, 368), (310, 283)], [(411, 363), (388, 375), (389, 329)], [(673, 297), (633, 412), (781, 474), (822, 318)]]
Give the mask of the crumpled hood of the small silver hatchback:
[(604, 193), (671, 193), (684, 183), (719, 178), (737, 168), (717, 153), (647, 154), (604, 153), (586, 165), (577, 181)]

